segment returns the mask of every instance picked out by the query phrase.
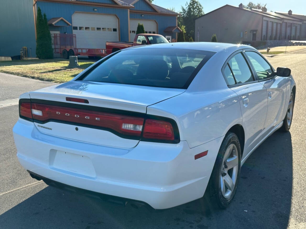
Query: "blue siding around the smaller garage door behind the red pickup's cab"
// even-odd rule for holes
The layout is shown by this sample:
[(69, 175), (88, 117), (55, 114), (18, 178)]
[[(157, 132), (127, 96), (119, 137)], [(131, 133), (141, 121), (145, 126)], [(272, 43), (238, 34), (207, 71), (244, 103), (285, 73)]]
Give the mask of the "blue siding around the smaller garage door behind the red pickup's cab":
[[(144, 16), (142, 17), (141, 15)], [(176, 26), (176, 16), (130, 13), (130, 19), (155, 20), (157, 22), (158, 34), (161, 34), (163, 36), (171, 35), (173, 38), (176, 37), (176, 33), (166, 34), (164, 32), (167, 27)]]

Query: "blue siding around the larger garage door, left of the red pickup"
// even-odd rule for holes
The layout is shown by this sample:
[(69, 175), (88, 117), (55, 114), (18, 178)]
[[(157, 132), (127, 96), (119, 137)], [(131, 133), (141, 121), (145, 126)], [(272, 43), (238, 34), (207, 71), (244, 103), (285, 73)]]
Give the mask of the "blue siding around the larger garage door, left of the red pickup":
[[(74, 12), (85, 12), (85, 13), (105, 13), (115, 14), (120, 19), (120, 40), (129, 40), (129, 20), (128, 20), (128, 9), (122, 8), (106, 8), (106, 7), (93, 7), (88, 5), (73, 5), (57, 2), (37, 2), (37, 7), (40, 7), (42, 13), (46, 13), (47, 19), (50, 20), (52, 17), (63, 17), (69, 23), (72, 24), (72, 15)], [(93, 11), (93, 8), (97, 11)], [(61, 33), (72, 34), (72, 26), (60, 27)]]

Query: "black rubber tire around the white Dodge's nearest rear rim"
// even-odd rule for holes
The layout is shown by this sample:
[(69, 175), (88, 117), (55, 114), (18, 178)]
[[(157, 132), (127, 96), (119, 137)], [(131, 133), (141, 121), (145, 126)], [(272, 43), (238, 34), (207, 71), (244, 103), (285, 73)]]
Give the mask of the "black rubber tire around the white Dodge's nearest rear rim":
[[(224, 166), (227, 167), (226, 164), (223, 165), (224, 155), (225, 155), (226, 149), (228, 149), (228, 147), (230, 147), (230, 145), (232, 144), (236, 146), (234, 151), (237, 149), (237, 152), (235, 152), (235, 154), (237, 154), (237, 158), (238, 158), (238, 167), (236, 165), (232, 169), (229, 169), (228, 171), (226, 171), (227, 173), (224, 173), (225, 171), (223, 170)], [(232, 154), (232, 151), (230, 152), (230, 154)], [(240, 148), (238, 137), (236, 134), (232, 132), (228, 132), (222, 141), (222, 144), (219, 149), (219, 152), (216, 158), (216, 162), (211, 172), (211, 177), (209, 179), (209, 183), (207, 186), (212, 203), (217, 204), (219, 208), (221, 209), (226, 209), (226, 207), (233, 201), (233, 198), (236, 193), (238, 181), (239, 181), (240, 166), (241, 166), (241, 148)], [(226, 190), (227, 193), (230, 192), (229, 196), (224, 197), (221, 191), (221, 180), (222, 180), (222, 177), (225, 176), (226, 174), (229, 176), (233, 176), (233, 171), (234, 171), (233, 169), (235, 169), (235, 174), (237, 174), (237, 177), (235, 179), (235, 183), (234, 183), (232, 190), (230, 189)], [(232, 175), (230, 173), (232, 173)]]

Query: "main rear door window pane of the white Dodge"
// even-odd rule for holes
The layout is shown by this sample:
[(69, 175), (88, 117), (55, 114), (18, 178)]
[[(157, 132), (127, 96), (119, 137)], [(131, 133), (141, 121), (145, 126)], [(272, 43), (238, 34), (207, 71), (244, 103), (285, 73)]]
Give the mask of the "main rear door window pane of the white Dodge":
[(233, 56), (232, 59), (228, 62), (228, 65), (232, 69), (234, 77), (237, 83), (246, 83), (254, 81), (252, 72), (245, 61), (242, 53), (238, 53)]

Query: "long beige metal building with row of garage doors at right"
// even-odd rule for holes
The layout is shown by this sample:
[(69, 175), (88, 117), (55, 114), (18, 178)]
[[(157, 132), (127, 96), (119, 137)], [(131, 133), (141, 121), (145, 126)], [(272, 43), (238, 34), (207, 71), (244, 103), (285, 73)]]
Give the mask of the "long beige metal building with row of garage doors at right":
[(195, 41), (211, 41), (213, 34), (229, 43), (306, 40), (306, 16), (224, 5), (195, 20)]

